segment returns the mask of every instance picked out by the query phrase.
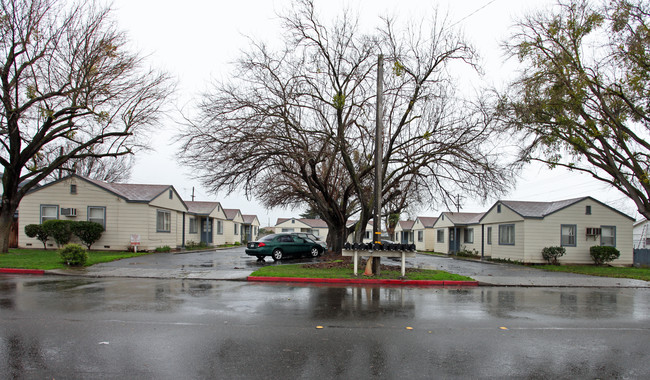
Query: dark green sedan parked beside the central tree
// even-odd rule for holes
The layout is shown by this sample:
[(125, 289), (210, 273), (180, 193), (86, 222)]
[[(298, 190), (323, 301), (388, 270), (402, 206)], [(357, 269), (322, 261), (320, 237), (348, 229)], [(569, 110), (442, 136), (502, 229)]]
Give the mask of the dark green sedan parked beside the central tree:
[(291, 234), (267, 235), (246, 245), (246, 254), (257, 260), (264, 260), (264, 256), (271, 256), (275, 261), (288, 256), (318, 257), (322, 252), (323, 247), (315, 241)]

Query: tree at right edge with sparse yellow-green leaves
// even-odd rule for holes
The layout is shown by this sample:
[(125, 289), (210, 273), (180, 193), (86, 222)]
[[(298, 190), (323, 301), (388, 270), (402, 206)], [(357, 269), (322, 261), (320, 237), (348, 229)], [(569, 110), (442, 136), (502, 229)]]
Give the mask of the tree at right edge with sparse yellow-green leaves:
[(647, 0), (561, 1), (522, 19), (506, 42), (522, 70), (500, 97), (523, 136), (522, 162), (586, 172), (650, 218)]

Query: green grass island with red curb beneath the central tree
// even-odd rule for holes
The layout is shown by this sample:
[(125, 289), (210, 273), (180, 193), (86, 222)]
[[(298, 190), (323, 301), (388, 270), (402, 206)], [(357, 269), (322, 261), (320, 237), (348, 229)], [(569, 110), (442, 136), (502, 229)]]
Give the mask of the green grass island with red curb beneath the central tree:
[[(309, 265), (309, 264), (307, 264)], [(361, 268), (361, 267), (360, 267)], [(360, 269), (360, 272), (363, 268)], [(354, 275), (352, 264), (345, 264), (338, 267), (328, 268), (309, 268), (305, 264), (293, 265), (270, 265), (253, 272), (251, 276), (259, 277), (298, 277), (298, 278), (358, 278)], [(366, 277), (374, 279), (398, 279), (401, 278), (399, 268), (395, 270), (385, 270), (382, 268), (379, 277)], [(458, 274), (448, 273), (441, 270), (427, 270), (407, 268), (407, 280), (447, 280), (447, 281), (474, 281), (473, 278), (461, 276)]]

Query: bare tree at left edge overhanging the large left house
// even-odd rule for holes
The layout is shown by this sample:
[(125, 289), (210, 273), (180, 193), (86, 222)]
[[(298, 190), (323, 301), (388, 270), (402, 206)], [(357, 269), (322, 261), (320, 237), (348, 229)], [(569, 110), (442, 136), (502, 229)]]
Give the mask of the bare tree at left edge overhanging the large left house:
[(25, 193), (69, 160), (131, 154), (173, 86), (166, 74), (143, 67), (110, 9), (93, 1), (2, 0), (0, 7), (0, 250), (6, 252)]

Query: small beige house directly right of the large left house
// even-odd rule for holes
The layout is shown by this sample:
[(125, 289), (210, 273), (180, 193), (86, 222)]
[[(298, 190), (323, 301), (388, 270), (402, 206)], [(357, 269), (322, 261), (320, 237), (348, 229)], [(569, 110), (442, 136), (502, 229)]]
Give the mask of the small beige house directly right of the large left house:
[(185, 202), (188, 221), (185, 231), (185, 244), (190, 242), (221, 245), (226, 243), (223, 226), (226, 213), (219, 202)]

